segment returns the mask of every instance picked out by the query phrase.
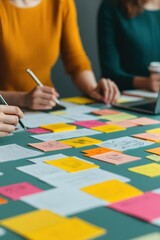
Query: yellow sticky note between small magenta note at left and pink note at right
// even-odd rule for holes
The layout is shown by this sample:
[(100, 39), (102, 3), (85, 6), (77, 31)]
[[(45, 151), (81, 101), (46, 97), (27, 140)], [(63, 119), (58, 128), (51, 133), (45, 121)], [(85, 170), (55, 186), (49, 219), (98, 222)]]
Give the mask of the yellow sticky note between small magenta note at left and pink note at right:
[(76, 126), (66, 124), (66, 123), (55, 123), (55, 124), (47, 124), (40, 126), (41, 128), (51, 130), (53, 132), (64, 132), (76, 129)]

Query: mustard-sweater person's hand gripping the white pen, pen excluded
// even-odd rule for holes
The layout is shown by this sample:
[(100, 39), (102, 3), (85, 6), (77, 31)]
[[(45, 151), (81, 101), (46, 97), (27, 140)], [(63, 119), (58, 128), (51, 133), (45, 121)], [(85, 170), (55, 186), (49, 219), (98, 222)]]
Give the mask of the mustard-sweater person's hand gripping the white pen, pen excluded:
[(55, 99), (59, 94), (54, 88), (37, 86), (26, 95), (26, 107), (33, 110), (47, 110), (56, 105)]

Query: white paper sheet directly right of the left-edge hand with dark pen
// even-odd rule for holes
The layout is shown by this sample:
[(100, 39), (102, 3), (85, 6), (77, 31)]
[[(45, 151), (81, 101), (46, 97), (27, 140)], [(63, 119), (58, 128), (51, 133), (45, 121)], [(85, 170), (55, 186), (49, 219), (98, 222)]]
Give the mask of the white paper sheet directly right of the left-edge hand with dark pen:
[(25, 114), (23, 118), (23, 123), (28, 128), (37, 128), (42, 124), (52, 124), (59, 122), (70, 122), (70, 120), (66, 118), (62, 118), (60, 116), (53, 116), (49, 113), (31, 113)]

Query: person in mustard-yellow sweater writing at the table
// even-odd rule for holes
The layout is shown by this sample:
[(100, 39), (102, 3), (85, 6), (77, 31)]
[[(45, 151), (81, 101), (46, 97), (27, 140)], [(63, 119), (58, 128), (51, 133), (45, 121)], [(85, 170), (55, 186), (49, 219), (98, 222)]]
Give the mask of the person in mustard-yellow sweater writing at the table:
[[(8, 103), (52, 108), (59, 94), (51, 82), (51, 68), (60, 54), (82, 92), (104, 103), (118, 98), (114, 82), (95, 80), (81, 43), (74, 0), (0, 0), (0, 35), (0, 93)], [(36, 87), (27, 68), (43, 87)]]

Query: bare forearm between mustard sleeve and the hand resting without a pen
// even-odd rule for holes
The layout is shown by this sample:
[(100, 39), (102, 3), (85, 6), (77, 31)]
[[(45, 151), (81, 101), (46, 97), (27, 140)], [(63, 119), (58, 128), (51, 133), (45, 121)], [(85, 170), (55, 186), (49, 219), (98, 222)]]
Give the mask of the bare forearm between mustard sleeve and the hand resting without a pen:
[(88, 94), (97, 86), (94, 73), (89, 70), (82, 71), (76, 75), (74, 82), (76, 86), (85, 94)]

